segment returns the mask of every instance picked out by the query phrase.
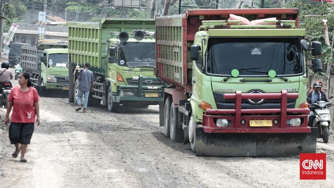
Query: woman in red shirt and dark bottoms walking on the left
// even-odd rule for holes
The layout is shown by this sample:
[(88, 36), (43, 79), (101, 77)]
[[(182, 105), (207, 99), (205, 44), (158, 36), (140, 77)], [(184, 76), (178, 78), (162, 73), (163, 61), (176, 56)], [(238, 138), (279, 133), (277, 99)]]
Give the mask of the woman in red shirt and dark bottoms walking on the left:
[[(28, 72), (22, 72), (17, 77), (20, 86), (13, 87), (8, 97), (5, 124), (8, 125), (9, 113), (13, 107), (9, 126), (9, 140), (15, 145), (12, 154), (16, 158), (21, 150), (21, 162), (24, 158), (34, 129), (34, 122), (40, 125), (40, 107), (37, 90), (31, 87)], [(36, 118), (36, 119), (35, 119)]]

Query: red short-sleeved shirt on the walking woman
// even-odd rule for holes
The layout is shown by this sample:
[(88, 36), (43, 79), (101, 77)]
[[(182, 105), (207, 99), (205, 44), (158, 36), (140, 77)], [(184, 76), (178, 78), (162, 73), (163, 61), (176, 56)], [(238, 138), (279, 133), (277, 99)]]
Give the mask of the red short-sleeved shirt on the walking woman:
[(10, 91), (8, 101), (13, 102), (11, 122), (35, 122), (35, 107), (33, 104), (39, 101), (39, 96), (34, 87), (29, 87), (29, 90), (26, 92), (21, 91), (18, 86), (13, 87)]

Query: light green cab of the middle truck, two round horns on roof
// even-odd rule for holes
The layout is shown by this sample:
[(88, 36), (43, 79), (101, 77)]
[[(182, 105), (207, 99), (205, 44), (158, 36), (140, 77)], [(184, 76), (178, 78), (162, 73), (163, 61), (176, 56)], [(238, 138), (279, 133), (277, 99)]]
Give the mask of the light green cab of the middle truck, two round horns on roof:
[[(159, 104), (163, 82), (155, 78), (153, 72), (156, 66), (154, 31), (135, 30), (111, 34), (107, 39), (110, 70), (107, 80), (116, 86), (112, 87), (114, 104), (137, 107)], [(139, 83), (143, 88), (135, 89)], [(146, 92), (147, 88), (155, 92)]]

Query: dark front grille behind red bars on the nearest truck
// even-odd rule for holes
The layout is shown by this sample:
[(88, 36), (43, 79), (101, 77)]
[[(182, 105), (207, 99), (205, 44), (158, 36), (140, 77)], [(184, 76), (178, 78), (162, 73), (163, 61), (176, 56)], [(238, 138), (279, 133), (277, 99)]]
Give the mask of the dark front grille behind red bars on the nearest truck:
[[(224, 93), (213, 93), (217, 109), (234, 109), (234, 100), (225, 100)], [(294, 108), (296, 99), (288, 99), (287, 108)], [(281, 100), (267, 99), (262, 104), (250, 104), (246, 100), (242, 100), (242, 109), (277, 109), (281, 108)]]

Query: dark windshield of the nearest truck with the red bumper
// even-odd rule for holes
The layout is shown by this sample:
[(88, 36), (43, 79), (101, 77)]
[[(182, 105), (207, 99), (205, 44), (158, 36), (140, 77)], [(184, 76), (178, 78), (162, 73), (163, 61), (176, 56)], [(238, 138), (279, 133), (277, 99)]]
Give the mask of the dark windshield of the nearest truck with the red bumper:
[(299, 37), (212, 37), (206, 54), (208, 74), (240, 76), (301, 74), (303, 58)]

